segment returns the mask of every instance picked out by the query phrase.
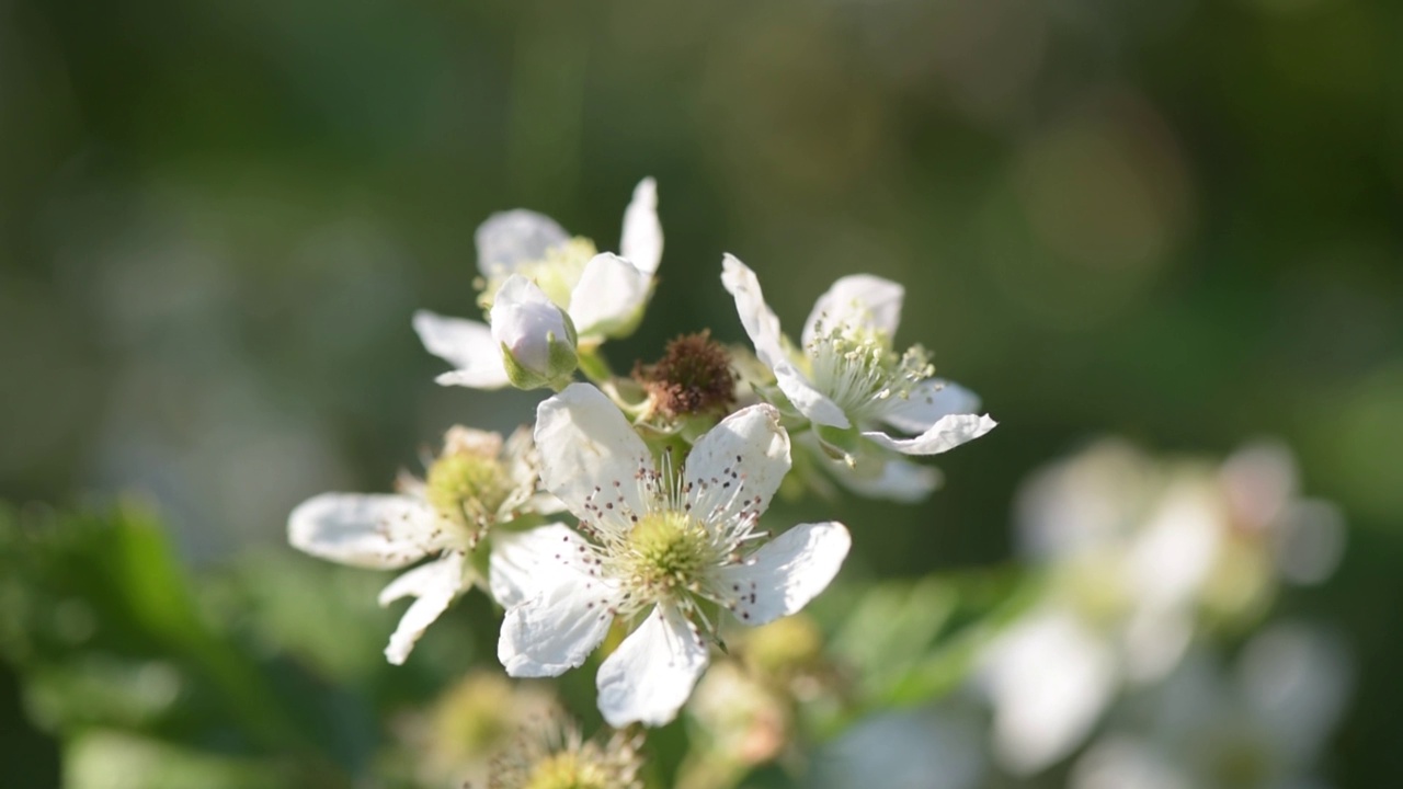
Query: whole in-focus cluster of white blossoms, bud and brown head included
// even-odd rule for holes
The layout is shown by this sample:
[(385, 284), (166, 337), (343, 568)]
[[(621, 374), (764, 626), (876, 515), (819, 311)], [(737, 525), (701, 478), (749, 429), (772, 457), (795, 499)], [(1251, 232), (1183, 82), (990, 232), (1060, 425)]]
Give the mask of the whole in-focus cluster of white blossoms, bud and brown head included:
[[(791, 472), (826, 469), (857, 493), (916, 500), (936, 473), (909, 458), (995, 424), (972, 393), (933, 376), (923, 348), (897, 350), (901, 285), (839, 279), (796, 345), (756, 275), (730, 256), (721, 284), (753, 357), (704, 330), (634, 365), (633, 378), (612, 375), (600, 345), (638, 327), (662, 257), (651, 178), (624, 212), (619, 254), (530, 211), (494, 215), (476, 240), (487, 321), (419, 312), (412, 323), (453, 365), (442, 385), (550, 389), (535, 425), (506, 441), (455, 427), (425, 477), (401, 477), (397, 494), (323, 494), (289, 519), (292, 545), (324, 559), (380, 569), (427, 560), (380, 595), (417, 598), (390, 639), (391, 663), (477, 585), (504, 609), (508, 675), (554, 677), (609, 644), (598, 668), (605, 720), (664, 724), (711, 647), (724, 649), (725, 619), (758, 626), (798, 612), (847, 556), (840, 522), (762, 526)], [(794, 452), (812, 460), (797, 465)], [(537, 751), (494, 785), (619, 786), (633, 776), (631, 762), (609, 767), (577, 736)], [(542, 778), (547, 762), (572, 778)]]

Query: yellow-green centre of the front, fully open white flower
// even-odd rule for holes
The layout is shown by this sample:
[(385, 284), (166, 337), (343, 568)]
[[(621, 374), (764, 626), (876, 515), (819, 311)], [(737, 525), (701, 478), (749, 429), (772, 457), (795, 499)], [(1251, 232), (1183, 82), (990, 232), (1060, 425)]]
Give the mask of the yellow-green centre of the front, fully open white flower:
[(629, 578), (652, 597), (696, 591), (716, 562), (711, 536), (696, 518), (680, 511), (650, 512), (629, 532)]

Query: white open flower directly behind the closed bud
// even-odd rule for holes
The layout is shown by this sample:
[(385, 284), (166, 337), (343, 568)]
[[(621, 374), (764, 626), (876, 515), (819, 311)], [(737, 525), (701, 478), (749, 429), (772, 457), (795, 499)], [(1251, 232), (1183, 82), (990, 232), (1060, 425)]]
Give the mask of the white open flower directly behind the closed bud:
[[(501, 286), (519, 274), (565, 310), (581, 345), (626, 337), (643, 317), (652, 275), (662, 260), (658, 187), (644, 178), (624, 211), (619, 254), (596, 254), (588, 239), (571, 237), (556, 220), (533, 211), (495, 213), (477, 229), (477, 267), (487, 281), (483, 305), (491, 306)], [(511, 383), (501, 347), (476, 320), (414, 314), (424, 347), (453, 365), (439, 383), (499, 389)]]

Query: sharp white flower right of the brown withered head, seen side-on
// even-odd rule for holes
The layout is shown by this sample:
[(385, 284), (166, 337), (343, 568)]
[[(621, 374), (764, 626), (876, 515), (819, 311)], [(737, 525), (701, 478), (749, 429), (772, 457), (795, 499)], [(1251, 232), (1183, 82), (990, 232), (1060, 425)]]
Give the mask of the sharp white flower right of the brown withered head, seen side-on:
[[(854, 462), (850, 448), (831, 444), (835, 430), (856, 430), (904, 455), (936, 455), (993, 430), (988, 414), (974, 413), (979, 407), (974, 393), (930, 378), (919, 345), (905, 354), (892, 350), (905, 296), (901, 285), (866, 274), (833, 282), (814, 305), (801, 345), (794, 348), (780, 333), (753, 271), (725, 256), (721, 282), (735, 296), (756, 355), (774, 372), (790, 404), (819, 428), (831, 453)], [(881, 425), (916, 435), (897, 438)]]

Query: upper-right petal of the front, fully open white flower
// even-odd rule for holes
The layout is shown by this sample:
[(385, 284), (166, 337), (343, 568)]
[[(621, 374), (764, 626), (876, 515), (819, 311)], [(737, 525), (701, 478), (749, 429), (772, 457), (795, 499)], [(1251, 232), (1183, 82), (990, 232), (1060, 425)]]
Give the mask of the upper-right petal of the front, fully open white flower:
[(790, 469), (788, 434), (773, 406), (749, 406), (721, 420), (687, 453), (693, 512), (731, 519), (759, 517)]

